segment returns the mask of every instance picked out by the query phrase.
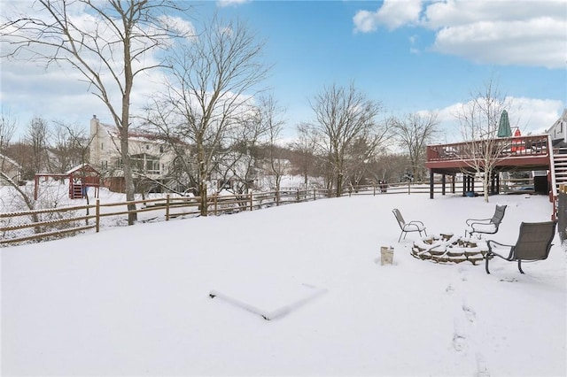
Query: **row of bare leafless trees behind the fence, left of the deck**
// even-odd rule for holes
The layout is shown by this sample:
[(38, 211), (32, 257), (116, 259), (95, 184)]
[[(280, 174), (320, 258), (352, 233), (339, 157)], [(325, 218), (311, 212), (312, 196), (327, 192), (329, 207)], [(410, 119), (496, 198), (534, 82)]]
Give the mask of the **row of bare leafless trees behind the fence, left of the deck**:
[[(338, 195), (369, 181), (425, 177), (425, 145), (437, 132), (436, 114), (387, 117), (383, 104), (353, 82), (330, 83), (309, 99), (313, 120), (297, 125), (296, 140), (283, 145), (285, 110), (274, 99), (277, 88), (264, 84), (271, 69), (262, 55), (267, 42), (244, 21), (216, 15), (200, 19), (196, 29), (185, 20), (195, 19), (197, 12), (184, 4), (38, 0), (34, 6), (41, 12), (35, 14), (41, 17), (18, 12), (2, 16), (1, 58), (34, 59), (46, 67), (81, 73), (105, 104), (120, 134), (120, 168), (128, 201), (136, 193), (128, 147), (135, 124), (159, 134), (175, 154), (171, 171), (195, 188), (204, 203), (214, 171), (222, 167), (241, 172), (234, 168), (238, 161), (251, 167), (245, 172), (252, 172), (260, 156), (268, 162), (276, 189), (284, 159), (304, 177), (323, 177)], [(94, 21), (74, 17), (80, 10)], [(133, 112), (133, 91), (145, 73), (154, 71), (163, 73), (161, 89), (147, 99), (143, 111)], [(80, 127), (48, 127), (37, 116), (18, 142), (11, 141), (11, 129), (10, 119), (3, 117), (0, 153), (24, 166), (26, 179), (88, 161), (89, 135)], [(135, 220), (132, 213), (128, 222)]]

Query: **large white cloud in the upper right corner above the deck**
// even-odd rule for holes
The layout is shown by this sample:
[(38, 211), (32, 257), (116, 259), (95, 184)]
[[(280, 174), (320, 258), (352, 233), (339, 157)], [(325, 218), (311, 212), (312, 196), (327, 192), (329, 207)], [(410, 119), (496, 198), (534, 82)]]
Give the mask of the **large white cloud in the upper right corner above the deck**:
[(420, 26), (435, 32), (431, 50), (443, 54), (488, 65), (566, 67), (564, 0), (447, 0), (422, 6), (386, 0), (377, 12), (357, 12), (355, 30)]

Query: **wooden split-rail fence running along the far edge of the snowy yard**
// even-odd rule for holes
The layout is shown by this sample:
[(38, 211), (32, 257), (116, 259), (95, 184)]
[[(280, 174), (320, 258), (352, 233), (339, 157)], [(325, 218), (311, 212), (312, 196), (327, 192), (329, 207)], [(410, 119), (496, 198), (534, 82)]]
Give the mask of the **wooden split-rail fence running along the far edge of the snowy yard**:
[[(517, 185), (525, 180), (510, 180), (509, 184)], [(478, 184), (479, 182), (477, 182)], [(451, 186), (447, 183), (446, 186)], [(462, 190), (462, 182), (454, 183), (455, 193)], [(482, 192), (476, 186), (475, 190)], [(435, 193), (442, 193), (442, 185), (436, 182)], [(528, 192), (528, 191), (522, 191)], [(429, 194), (429, 183), (406, 182), (382, 185), (353, 186), (343, 196), (358, 195), (391, 195), (391, 194)], [(206, 213), (220, 215), (269, 208), (282, 204), (303, 203), (323, 198), (334, 197), (334, 192), (322, 188), (282, 189), (280, 191), (252, 192), (229, 196), (207, 196)], [(134, 204), (136, 210), (128, 211), (128, 204)], [(200, 197), (171, 196), (120, 203), (100, 203), (75, 205), (51, 209), (40, 209), (25, 212), (0, 213), (0, 247), (20, 242), (41, 242), (76, 235), (101, 227), (121, 226), (128, 223), (128, 213), (136, 212), (140, 222), (176, 219), (180, 217), (196, 217), (200, 211)], [(106, 221), (106, 222), (105, 222)]]

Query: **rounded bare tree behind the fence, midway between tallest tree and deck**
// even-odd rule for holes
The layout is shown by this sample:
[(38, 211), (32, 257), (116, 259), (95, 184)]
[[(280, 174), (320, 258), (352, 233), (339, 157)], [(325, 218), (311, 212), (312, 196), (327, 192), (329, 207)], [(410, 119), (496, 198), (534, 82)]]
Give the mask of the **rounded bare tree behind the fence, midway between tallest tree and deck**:
[(316, 119), (312, 127), (322, 135), (322, 150), (329, 158), (336, 195), (340, 196), (348, 148), (357, 139), (364, 139), (371, 153), (384, 141), (387, 127), (376, 119), (382, 105), (369, 100), (353, 84), (349, 88), (335, 84), (323, 88), (309, 103)]

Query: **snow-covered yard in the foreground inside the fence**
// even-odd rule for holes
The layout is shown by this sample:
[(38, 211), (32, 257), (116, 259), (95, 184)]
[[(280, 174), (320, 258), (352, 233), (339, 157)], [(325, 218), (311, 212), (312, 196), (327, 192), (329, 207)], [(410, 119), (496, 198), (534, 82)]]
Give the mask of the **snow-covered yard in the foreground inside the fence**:
[(547, 196), (353, 196), (4, 248), (2, 374), (564, 376), (558, 236), (524, 275), (413, 258), (416, 234), (397, 242), (393, 208), (464, 235), (495, 204), (509, 207), (487, 238), (505, 243), (551, 213)]

